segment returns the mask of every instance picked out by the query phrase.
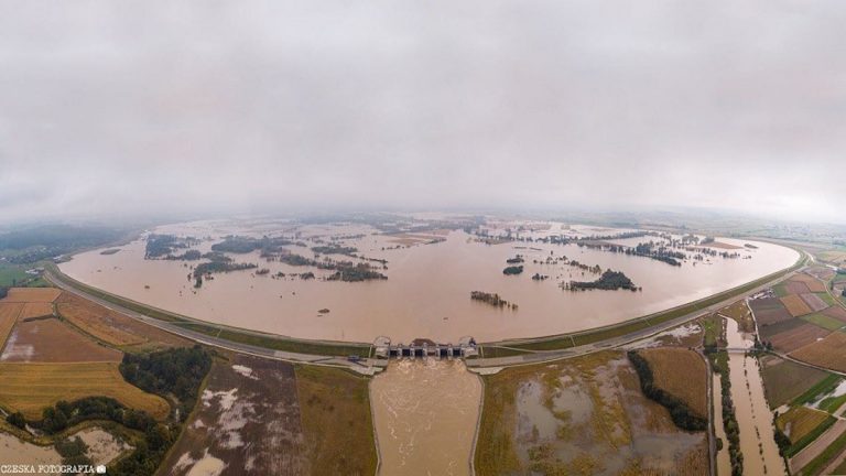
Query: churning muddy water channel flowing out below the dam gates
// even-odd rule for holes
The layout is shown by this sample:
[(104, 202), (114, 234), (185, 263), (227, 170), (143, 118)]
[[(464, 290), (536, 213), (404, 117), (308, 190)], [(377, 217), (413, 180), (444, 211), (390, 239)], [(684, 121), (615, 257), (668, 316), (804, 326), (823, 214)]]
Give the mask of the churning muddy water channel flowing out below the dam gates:
[(370, 383), (381, 475), (469, 475), (481, 381), (460, 360), (402, 359)]

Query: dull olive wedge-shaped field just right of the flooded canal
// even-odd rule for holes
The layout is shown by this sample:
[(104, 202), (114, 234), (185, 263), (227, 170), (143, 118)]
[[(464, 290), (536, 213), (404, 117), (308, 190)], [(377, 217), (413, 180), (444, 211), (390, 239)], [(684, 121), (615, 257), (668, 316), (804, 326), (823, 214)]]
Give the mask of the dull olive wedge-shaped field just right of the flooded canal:
[(760, 363), (767, 402), (772, 409), (791, 402), (827, 375), (771, 355), (761, 357)]

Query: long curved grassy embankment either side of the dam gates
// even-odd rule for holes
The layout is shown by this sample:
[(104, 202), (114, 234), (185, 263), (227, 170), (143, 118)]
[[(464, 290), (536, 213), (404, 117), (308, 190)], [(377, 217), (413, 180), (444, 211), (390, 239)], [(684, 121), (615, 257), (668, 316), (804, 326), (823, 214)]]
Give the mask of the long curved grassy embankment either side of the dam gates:
[[(727, 301), (738, 299), (787, 278), (804, 267), (807, 261), (807, 256), (803, 251), (799, 252), (800, 258), (790, 268), (670, 310), (642, 317), (636, 317), (614, 325), (576, 333), (482, 344), (482, 358), (468, 361), (468, 366), (477, 367), (488, 364), (502, 366), (519, 365), (521, 361), (495, 361), (494, 359), (499, 357), (527, 357), (532, 354), (549, 354), (545, 356), (546, 358), (536, 356), (539, 358), (532, 358), (532, 361), (561, 358), (563, 356), (556, 355), (561, 351), (574, 350), (575, 348), (582, 347), (605, 348), (622, 342), (642, 338), (643, 336), (661, 332), (670, 326), (695, 318), (705, 312), (713, 311), (713, 307), (722, 306)], [(132, 317), (140, 318), (152, 325), (158, 325), (165, 331), (194, 340), (202, 340), (205, 343), (208, 343), (209, 340), (215, 343), (231, 343), (236, 350), (239, 346), (243, 346), (245, 350), (267, 349), (276, 353), (276, 356), (288, 355), (292, 360), (306, 363), (315, 361), (315, 357), (347, 358), (349, 356), (356, 356), (358, 358), (370, 359), (372, 356), (372, 346), (366, 343), (299, 339), (247, 328), (214, 324), (166, 310), (156, 309), (82, 283), (64, 274), (55, 264), (47, 266), (45, 278), (59, 288), (84, 293), (87, 296), (99, 301), (101, 304), (108, 303), (118, 306), (121, 311)]]

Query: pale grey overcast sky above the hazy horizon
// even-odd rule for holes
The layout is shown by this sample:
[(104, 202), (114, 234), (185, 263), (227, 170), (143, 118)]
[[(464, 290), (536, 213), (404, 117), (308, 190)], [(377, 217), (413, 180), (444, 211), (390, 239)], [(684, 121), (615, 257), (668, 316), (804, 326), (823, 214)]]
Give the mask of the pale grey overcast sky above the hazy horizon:
[(0, 0), (0, 221), (716, 207), (846, 221), (846, 2)]

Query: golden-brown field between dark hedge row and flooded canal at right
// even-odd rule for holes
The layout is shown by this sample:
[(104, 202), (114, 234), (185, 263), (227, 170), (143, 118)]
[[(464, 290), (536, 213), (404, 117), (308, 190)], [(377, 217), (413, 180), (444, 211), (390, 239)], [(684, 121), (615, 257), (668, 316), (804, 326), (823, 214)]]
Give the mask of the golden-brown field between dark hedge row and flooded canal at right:
[(699, 416), (708, 416), (707, 368), (693, 350), (661, 347), (640, 350), (652, 370), (655, 386), (681, 399)]

